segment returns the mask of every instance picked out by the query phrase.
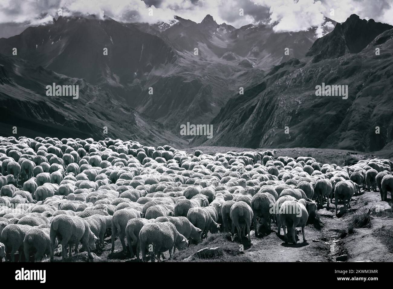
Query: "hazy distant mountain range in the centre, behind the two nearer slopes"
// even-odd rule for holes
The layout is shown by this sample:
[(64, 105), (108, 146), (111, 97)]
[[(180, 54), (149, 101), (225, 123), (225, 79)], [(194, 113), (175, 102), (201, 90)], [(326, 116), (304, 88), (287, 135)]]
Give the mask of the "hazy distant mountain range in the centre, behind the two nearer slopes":
[[(153, 25), (59, 17), (0, 39), (0, 53), (11, 56), (15, 47), (13, 58), (83, 79), (179, 135), (181, 124), (210, 123), (241, 87), (257, 85), (274, 65), (304, 57), (315, 39), (316, 28), (274, 33), (270, 26), (250, 24), (237, 29), (210, 15), (201, 23), (175, 17)], [(284, 54), (286, 47), (290, 55)]]

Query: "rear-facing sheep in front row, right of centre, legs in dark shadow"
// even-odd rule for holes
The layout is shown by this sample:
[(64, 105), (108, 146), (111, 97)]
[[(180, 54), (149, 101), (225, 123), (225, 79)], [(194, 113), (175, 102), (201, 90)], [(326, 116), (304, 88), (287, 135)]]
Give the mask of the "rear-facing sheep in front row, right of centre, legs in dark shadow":
[[(253, 219), (253, 212), (250, 206), (246, 204), (246, 202), (240, 201), (235, 202), (231, 206), (230, 216), (232, 219), (232, 234), (235, 234), (235, 226), (237, 228), (237, 234), (239, 237), (239, 241), (242, 241), (242, 234), (246, 236), (246, 229), (248, 232), (248, 242), (251, 243), (251, 236), (250, 236), (250, 227), (251, 221)], [(243, 230), (243, 231), (242, 231)]]

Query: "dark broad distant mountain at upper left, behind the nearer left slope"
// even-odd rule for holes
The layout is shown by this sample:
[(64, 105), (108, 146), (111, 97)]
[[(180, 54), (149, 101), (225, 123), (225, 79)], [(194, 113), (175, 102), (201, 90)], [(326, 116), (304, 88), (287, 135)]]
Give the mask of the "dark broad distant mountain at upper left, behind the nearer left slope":
[(53, 24), (0, 39), (0, 53), (12, 55), (14, 47), (18, 56), (37, 65), (114, 87), (131, 85), (138, 75), (176, 60), (176, 52), (159, 37), (109, 17), (59, 17)]

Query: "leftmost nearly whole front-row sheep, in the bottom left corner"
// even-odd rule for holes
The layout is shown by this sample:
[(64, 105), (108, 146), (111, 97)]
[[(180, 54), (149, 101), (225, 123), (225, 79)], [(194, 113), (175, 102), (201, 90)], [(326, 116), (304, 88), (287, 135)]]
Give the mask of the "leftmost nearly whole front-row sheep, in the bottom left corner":
[(11, 224), (3, 229), (0, 241), (5, 246), (6, 254), (11, 254), (11, 262), (15, 262), (17, 251), (23, 252), (24, 237), (31, 228), (33, 227), (28, 225)]

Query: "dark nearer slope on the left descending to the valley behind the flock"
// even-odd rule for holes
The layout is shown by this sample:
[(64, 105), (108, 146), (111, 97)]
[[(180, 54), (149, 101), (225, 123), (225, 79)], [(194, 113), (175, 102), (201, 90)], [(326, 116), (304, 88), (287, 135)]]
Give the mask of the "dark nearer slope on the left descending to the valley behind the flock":
[[(79, 85), (79, 97), (47, 96), (46, 86), (53, 83)], [(16, 126), (16, 136), (121, 137), (155, 144), (183, 144), (160, 123), (149, 120), (83, 79), (1, 54), (0, 99), (0, 135), (10, 135)], [(105, 126), (107, 134), (104, 134)]]

